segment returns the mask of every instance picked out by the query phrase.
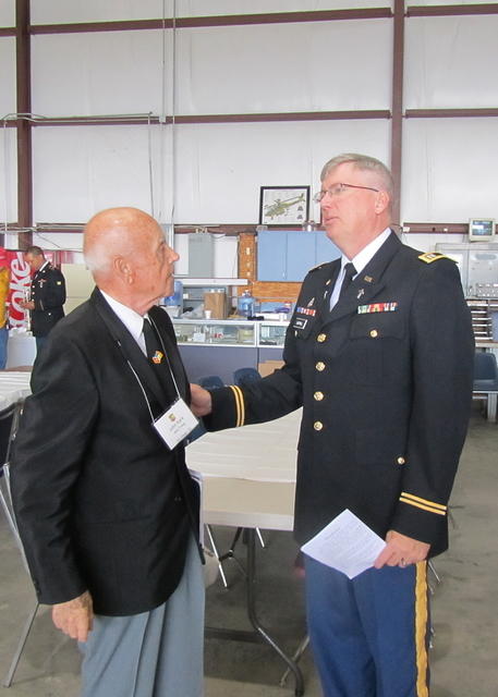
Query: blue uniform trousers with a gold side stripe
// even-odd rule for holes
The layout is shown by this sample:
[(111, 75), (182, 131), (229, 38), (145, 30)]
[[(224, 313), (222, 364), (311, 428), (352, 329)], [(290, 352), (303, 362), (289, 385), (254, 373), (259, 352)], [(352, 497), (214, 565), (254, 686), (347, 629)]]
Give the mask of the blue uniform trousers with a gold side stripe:
[(427, 697), (426, 562), (350, 580), (305, 555), (306, 612), (324, 697)]

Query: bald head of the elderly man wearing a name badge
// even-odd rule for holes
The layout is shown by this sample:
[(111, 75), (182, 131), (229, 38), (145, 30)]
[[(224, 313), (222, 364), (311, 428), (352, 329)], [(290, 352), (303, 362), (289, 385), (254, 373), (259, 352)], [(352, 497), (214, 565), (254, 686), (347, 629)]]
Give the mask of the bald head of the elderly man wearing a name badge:
[(108, 208), (85, 227), (83, 252), (97, 285), (144, 314), (171, 295), (178, 254), (157, 221), (137, 208)]

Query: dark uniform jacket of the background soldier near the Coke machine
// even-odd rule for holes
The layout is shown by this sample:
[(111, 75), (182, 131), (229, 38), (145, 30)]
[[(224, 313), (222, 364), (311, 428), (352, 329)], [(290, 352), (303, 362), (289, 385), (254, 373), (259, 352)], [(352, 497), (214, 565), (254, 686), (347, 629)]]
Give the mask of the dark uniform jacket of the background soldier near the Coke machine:
[(35, 337), (46, 337), (64, 316), (65, 281), (59, 269), (47, 262), (32, 279), (31, 299), (35, 309), (31, 311), (32, 331)]

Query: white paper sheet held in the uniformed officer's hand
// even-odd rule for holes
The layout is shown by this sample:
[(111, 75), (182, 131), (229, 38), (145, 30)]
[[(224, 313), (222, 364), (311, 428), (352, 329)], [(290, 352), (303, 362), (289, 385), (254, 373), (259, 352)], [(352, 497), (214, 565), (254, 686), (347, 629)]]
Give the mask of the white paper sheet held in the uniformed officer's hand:
[(374, 565), (386, 542), (348, 509), (301, 548), (318, 562), (354, 578)]

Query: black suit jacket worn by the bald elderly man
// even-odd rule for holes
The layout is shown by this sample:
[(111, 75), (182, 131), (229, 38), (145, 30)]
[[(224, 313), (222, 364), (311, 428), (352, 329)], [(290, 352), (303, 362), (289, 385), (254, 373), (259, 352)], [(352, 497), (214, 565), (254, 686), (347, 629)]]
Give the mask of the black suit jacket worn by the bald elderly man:
[[(149, 315), (189, 403), (171, 321), (157, 307)], [(138, 380), (158, 416), (175, 395), (98, 290), (57, 325), (37, 360), (11, 472), (40, 602), (88, 589), (97, 613), (135, 614), (181, 578), (198, 500), (183, 447), (163, 444)]]

